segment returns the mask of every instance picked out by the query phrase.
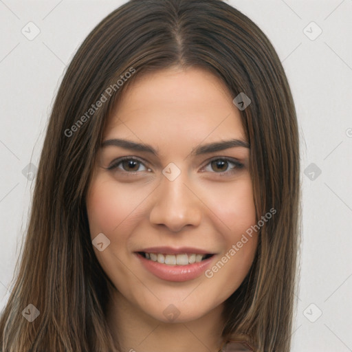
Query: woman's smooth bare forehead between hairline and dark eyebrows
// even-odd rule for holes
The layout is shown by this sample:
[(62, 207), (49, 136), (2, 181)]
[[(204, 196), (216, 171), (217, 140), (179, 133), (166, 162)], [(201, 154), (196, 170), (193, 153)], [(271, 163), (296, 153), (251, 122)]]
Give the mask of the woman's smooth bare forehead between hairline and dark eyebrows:
[(104, 137), (197, 143), (245, 139), (239, 110), (225, 84), (199, 68), (164, 69), (137, 78), (109, 116)]

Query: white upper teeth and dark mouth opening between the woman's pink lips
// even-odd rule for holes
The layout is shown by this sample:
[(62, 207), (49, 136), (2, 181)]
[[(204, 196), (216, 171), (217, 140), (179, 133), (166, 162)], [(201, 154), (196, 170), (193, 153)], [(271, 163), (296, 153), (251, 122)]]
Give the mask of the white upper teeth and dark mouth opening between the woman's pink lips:
[(145, 259), (149, 261), (155, 261), (160, 264), (166, 265), (189, 265), (193, 263), (200, 263), (209, 259), (214, 254), (195, 254), (195, 253), (183, 253), (183, 254), (162, 254), (162, 253), (146, 253), (137, 252)]

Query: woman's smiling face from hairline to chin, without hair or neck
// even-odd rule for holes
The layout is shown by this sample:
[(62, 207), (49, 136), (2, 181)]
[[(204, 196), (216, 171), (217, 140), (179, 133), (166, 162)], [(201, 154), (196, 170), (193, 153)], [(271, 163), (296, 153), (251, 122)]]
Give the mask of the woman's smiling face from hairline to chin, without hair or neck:
[(89, 228), (116, 294), (140, 314), (196, 320), (250, 270), (250, 153), (233, 98), (202, 69), (166, 69), (136, 80), (108, 120)]

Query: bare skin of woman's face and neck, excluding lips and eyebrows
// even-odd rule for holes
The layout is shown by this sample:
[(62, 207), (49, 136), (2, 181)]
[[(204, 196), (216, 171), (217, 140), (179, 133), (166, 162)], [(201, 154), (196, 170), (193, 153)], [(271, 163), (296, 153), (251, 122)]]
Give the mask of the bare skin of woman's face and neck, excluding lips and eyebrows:
[[(122, 138), (158, 151), (155, 156), (120, 146), (100, 148), (87, 193), (91, 239), (103, 233), (110, 241), (102, 252), (94, 251), (117, 289), (107, 321), (122, 351), (219, 349), (223, 303), (250, 270), (255, 233), (211, 278), (162, 280), (134, 252), (161, 245), (201, 248), (215, 253), (211, 268), (256, 223), (249, 148), (190, 154), (203, 144), (245, 141), (233, 98), (219, 78), (203, 69), (174, 67), (139, 77), (108, 120), (103, 141)], [(142, 162), (107, 169), (124, 156)], [(243, 167), (232, 160), (211, 163), (223, 157)], [(162, 174), (170, 162), (181, 171), (173, 181)], [(171, 304), (179, 311), (172, 322), (163, 314)]]

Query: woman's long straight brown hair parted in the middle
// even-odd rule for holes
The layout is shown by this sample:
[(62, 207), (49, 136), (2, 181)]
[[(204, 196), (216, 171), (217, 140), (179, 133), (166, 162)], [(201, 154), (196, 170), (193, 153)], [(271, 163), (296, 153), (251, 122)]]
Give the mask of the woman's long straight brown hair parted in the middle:
[[(1, 315), (1, 351), (118, 349), (105, 319), (112, 283), (92, 248), (85, 195), (121, 92), (173, 66), (206, 69), (234, 98), (244, 92), (252, 100), (240, 112), (256, 216), (277, 212), (261, 227), (248, 276), (225, 302), (223, 338), (242, 333), (259, 352), (289, 351), (300, 218), (296, 111), (270, 41), (221, 0), (131, 0), (80, 46), (47, 127), (21, 263)], [(40, 312), (32, 322), (23, 314), (34, 314), (30, 304)]]

